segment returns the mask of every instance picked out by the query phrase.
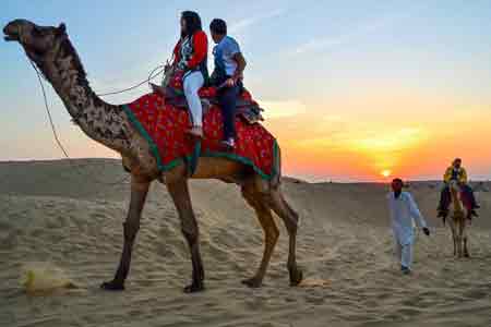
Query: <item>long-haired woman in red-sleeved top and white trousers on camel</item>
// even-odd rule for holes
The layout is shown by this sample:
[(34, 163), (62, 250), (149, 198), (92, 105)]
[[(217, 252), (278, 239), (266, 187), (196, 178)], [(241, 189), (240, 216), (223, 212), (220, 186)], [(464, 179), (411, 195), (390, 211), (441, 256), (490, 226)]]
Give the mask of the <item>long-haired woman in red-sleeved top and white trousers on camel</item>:
[(202, 29), (200, 15), (184, 11), (181, 15), (181, 38), (173, 49), (173, 65), (184, 71), (183, 89), (193, 122), (190, 134), (203, 137), (203, 108), (197, 92), (208, 78), (208, 39)]

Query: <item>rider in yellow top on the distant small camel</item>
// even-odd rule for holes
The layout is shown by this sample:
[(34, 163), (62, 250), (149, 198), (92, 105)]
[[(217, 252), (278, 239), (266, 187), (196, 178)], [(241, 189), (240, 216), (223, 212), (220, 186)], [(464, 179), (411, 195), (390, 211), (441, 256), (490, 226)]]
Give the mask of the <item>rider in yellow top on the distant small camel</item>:
[(448, 215), (448, 206), (452, 202), (448, 183), (450, 181), (453, 180), (458, 182), (464, 196), (469, 201), (471, 206), (471, 215), (477, 216), (476, 209), (479, 208), (479, 205), (476, 202), (472, 189), (467, 184), (467, 171), (465, 170), (464, 167), (462, 167), (462, 159), (456, 158), (452, 162), (452, 166), (446, 169), (445, 174), (443, 175), (443, 181), (445, 182), (445, 185), (442, 189), (440, 195), (440, 205), (438, 208), (439, 217), (446, 217)]

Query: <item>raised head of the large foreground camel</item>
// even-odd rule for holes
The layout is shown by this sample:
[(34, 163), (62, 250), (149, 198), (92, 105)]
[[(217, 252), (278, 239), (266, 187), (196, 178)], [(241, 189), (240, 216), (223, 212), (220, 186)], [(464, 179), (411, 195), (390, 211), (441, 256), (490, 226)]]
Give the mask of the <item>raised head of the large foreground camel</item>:
[(27, 20), (15, 20), (3, 27), (7, 41), (17, 41), (27, 57), (39, 68), (52, 62), (68, 39), (64, 24), (58, 27), (38, 26)]

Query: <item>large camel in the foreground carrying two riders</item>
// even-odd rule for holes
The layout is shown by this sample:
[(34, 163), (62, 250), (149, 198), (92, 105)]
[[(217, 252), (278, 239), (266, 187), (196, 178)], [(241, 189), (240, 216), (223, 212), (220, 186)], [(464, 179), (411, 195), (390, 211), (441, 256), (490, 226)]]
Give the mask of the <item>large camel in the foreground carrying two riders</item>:
[[(82, 62), (69, 40), (64, 24), (58, 27), (38, 26), (26, 20), (10, 22), (4, 28), (8, 41), (19, 43), (28, 59), (43, 72), (61, 98), (64, 107), (82, 131), (94, 141), (121, 155), (123, 167), (131, 173), (131, 199), (123, 222), (123, 247), (119, 266), (110, 281), (101, 283), (104, 290), (123, 290), (127, 280), (132, 247), (140, 229), (140, 219), (148, 187), (152, 182), (165, 183), (173, 201), (181, 222), (181, 231), (191, 253), (192, 279), (184, 292), (204, 290), (204, 268), (200, 254), (199, 226), (192, 208), (188, 189), (189, 175), (184, 165), (161, 172), (149, 145), (135, 130), (122, 106), (101, 100), (89, 87)], [(280, 162), (277, 177), (271, 181), (261, 179), (243, 164), (224, 159), (202, 157), (193, 179), (217, 179), (236, 183), (242, 196), (255, 210), (264, 230), (264, 253), (256, 272), (242, 282), (251, 288), (261, 287), (266, 269), (279, 237), (273, 219), (274, 211), (285, 223), (289, 235), (287, 268), (290, 286), (298, 286), (302, 271), (296, 259), (296, 239), (299, 216), (286, 202), (280, 189)]]

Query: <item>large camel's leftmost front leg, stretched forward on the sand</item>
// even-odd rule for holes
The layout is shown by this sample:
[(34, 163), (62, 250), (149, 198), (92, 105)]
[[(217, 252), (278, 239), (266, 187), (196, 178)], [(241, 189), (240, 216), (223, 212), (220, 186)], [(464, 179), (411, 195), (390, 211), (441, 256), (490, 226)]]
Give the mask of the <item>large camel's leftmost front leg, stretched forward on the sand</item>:
[(124, 290), (124, 280), (130, 271), (131, 252), (134, 239), (140, 229), (140, 218), (142, 216), (143, 206), (145, 204), (146, 194), (148, 193), (149, 182), (141, 180), (136, 177), (131, 179), (131, 199), (127, 219), (123, 223), (124, 243), (121, 253), (121, 259), (116, 271), (115, 279), (103, 282), (100, 286), (105, 290)]

